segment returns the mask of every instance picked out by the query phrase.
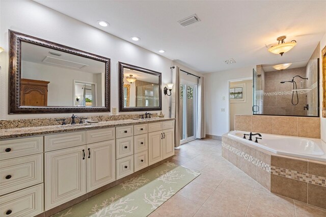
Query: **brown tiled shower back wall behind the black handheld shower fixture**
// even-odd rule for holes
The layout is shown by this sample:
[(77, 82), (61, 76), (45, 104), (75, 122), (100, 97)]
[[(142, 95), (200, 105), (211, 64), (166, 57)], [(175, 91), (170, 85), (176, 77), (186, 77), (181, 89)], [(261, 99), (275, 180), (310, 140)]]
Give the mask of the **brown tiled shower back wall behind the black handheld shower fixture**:
[[(306, 92), (298, 91), (298, 104), (292, 105), (292, 83), (281, 84), (284, 80), (291, 80), (295, 75), (306, 77), (306, 67), (285, 69), (283, 71), (265, 72), (264, 89), (264, 112), (265, 115), (297, 115), (304, 116), (306, 111)], [(297, 83), (297, 89), (308, 88), (306, 79), (300, 77), (294, 78)], [(317, 88), (315, 88), (317, 90)], [(294, 93), (293, 102), (296, 103)]]

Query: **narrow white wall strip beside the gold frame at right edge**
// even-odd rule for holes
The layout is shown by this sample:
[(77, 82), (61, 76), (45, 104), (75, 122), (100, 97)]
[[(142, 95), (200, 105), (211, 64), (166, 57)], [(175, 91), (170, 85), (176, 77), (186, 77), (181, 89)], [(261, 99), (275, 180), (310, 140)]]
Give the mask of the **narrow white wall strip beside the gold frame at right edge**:
[[(322, 37), (322, 39), (320, 40), (320, 58), (319, 58), (319, 89), (320, 89), (320, 94), (319, 94), (319, 105), (320, 105), (320, 138), (326, 142), (326, 118), (322, 117), (322, 91), (324, 92), (324, 94), (326, 94), (326, 90), (322, 90), (322, 56), (321, 56), (321, 50), (326, 46), (326, 34)], [(324, 63), (326, 64), (326, 63)], [(325, 87), (326, 88), (326, 87)]]

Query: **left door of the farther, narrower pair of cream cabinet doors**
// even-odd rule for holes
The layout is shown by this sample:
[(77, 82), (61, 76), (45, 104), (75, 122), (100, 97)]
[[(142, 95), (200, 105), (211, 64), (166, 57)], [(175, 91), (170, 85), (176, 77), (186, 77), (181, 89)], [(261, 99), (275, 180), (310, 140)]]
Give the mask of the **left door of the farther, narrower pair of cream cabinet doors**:
[(162, 131), (148, 133), (148, 163), (149, 165), (155, 164), (156, 162), (163, 159), (162, 150)]

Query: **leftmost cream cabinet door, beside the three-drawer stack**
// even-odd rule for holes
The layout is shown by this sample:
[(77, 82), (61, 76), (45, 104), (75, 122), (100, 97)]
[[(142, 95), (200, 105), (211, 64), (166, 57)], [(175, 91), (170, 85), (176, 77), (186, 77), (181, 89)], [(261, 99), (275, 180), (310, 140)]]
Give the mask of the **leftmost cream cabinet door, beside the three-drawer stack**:
[(45, 153), (45, 209), (86, 194), (86, 145)]

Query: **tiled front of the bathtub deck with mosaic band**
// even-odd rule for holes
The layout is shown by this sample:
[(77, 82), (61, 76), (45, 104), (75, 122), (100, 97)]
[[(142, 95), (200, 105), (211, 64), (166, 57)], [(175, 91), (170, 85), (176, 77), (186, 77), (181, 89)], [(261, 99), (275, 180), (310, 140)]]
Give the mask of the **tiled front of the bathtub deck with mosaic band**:
[(270, 192), (326, 208), (326, 162), (274, 154), (228, 134), (222, 156)]

